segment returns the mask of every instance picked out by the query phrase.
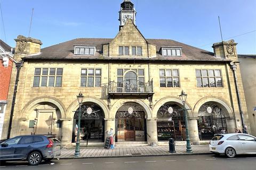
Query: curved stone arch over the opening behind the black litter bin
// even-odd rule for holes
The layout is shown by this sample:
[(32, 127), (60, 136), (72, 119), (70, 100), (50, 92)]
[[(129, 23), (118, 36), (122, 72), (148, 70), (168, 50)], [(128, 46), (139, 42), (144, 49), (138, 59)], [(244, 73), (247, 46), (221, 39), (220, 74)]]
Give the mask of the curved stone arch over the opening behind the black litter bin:
[[(154, 109), (153, 109), (153, 117), (157, 117), (157, 112), (159, 110), (159, 108), (164, 105), (165, 103), (168, 103), (168, 102), (173, 102), (173, 103), (176, 103), (180, 106), (183, 105), (182, 101), (178, 98), (178, 97), (175, 97), (175, 96), (167, 96), (167, 97), (164, 97), (160, 100), (157, 101), (157, 103), (155, 104), (154, 106)], [(185, 104), (185, 108), (188, 109), (187, 112), (188, 112), (188, 118), (190, 117), (194, 117), (193, 115), (193, 112), (191, 111), (191, 107), (190, 105), (186, 102)]]

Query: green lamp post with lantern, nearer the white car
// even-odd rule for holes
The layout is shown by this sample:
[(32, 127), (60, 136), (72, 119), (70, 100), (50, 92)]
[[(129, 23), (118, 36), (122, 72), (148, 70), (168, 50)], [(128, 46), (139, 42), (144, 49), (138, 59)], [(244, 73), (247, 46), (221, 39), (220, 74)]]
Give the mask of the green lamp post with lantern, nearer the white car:
[(188, 131), (188, 118), (187, 118), (187, 113), (186, 113), (186, 108), (185, 108), (185, 103), (187, 100), (187, 94), (182, 90), (181, 94), (179, 95), (182, 103), (183, 103), (183, 113), (184, 113), (184, 119), (185, 119), (185, 126), (186, 126), (186, 141), (187, 141), (187, 153), (192, 153), (191, 145), (190, 145), (190, 139), (189, 139), (189, 131)]

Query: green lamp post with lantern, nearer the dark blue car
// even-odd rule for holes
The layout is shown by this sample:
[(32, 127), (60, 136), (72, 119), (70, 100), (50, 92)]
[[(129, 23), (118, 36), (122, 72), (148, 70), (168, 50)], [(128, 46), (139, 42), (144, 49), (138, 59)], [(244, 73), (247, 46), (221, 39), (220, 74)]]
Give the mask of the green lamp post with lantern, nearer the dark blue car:
[(78, 129), (77, 129), (77, 135), (76, 135), (76, 150), (75, 150), (75, 157), (80, 156), (80, 122), (81, 122), (81, 105), (83, 103), (84, 96), (82, 92), (79, 93), (77, 97), (78, 103), (79, 103), (79, 110), (78, 110)]

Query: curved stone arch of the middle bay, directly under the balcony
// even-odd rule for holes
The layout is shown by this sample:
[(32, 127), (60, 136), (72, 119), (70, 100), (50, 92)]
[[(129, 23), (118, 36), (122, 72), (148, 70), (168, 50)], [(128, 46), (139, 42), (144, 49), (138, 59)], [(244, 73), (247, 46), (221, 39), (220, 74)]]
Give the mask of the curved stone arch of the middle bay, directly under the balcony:
[(134, 103), (137, 103), (139, 105), (142, 106), (144, 112), (146, 113), (146, 117), (147, 118), (151, 118), (151, 109), (149, 107), (149, 105), (147, 105), (145, 102), (143, 102), (142, 100), (140, 99), (119, 99), (116, 101), (116, 103), (112, 106), (111, 108), (111, 116), (110, 118), (115, 118), (115, 115), (116, 115), (116, 112), (118, 111), (118, 109), (123, 106), (125, 103), (128, 103), (128, 102), (134, 102)]

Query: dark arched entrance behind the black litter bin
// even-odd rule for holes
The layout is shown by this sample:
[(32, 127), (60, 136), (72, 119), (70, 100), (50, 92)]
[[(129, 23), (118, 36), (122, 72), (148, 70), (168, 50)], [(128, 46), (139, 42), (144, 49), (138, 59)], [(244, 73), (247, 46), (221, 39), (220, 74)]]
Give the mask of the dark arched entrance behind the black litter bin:
[(183, 109), (175, 103), (166, 103), (157, 112), (157, 139), (168, 141), (170, 138), (186, 140)]

